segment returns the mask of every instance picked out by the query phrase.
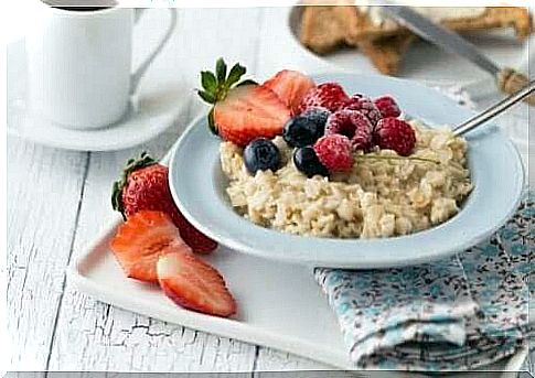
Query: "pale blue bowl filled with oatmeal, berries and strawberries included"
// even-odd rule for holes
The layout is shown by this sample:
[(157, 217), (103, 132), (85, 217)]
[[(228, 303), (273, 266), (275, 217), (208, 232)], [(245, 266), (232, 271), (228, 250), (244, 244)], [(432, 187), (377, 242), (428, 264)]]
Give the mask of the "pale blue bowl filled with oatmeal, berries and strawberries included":
[[(454, 137), (450, 128), (472, 111), (409, 80), (312, 80), (282, 72), (261, 85), (290, 94), (288, 111), (261, 86), (239, 86), (183, 133), (170, 187), (200, 230), (263, 258), (387, 268), (461, 252), (514, 212), (523, 165), (496, 126)], [(336, 105), (342, 88), (359, 95)]]

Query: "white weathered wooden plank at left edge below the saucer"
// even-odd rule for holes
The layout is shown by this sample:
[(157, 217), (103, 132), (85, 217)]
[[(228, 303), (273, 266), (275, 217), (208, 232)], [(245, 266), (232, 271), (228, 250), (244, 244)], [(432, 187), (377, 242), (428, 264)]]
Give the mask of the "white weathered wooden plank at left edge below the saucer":
[(10, 368), (43, 370), (63, 296), (87, 154), (8, 138)]

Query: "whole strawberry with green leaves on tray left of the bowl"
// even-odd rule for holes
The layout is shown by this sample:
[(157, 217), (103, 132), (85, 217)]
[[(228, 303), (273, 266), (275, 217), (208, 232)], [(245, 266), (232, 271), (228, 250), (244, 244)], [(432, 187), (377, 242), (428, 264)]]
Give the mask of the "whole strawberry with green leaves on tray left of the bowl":
[(171, 196), (168, 168), (142, 152), (129, 160), (120, 180), (114, 183), (111, 205), (125, 219), (140, 210), (168, 214), (179, 228), (182, 239), (197, 253), (210, 253), (217, 242), (193, 227), (180, 213)]

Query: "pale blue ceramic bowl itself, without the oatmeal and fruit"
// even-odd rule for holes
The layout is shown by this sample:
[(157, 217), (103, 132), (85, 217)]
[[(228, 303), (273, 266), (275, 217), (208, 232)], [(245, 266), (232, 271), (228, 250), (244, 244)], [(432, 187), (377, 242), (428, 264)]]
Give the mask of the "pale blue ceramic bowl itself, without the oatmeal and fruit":
[[(442, 94), (409, 80), (385, 76), (332, 74), (347, 93), (392, 94), (406, 114), (429, 126), (457, 125), (473, 114)], [(407, 236), (335, 239), (290, 235), (257, 226), (233, 210), (220, 165), (221, 140), (205, 117), (194, 121), (175, 144), (170, 187), (183, 215), (200, 230), (237, 251), (317, 267), (386, 268), (428, 262), (463, 251), (490, 236), (513, 214), (524, 186), (521, 158), (493, 125), (467, 136), (474, 188), (451, 219)]]

